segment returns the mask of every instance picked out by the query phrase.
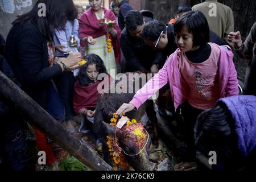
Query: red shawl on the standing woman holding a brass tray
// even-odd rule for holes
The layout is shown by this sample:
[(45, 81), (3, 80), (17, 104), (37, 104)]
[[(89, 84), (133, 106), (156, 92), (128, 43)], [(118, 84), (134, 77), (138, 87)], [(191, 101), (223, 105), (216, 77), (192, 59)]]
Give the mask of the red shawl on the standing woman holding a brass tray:
[[(105, 12), (104, 18), (108, 18), (110, 20), (115, 20), (114, 13), (102, 7)], [(97, 20), (96, 15), (94, 14), (93, 10), (90, 8), (86, 11), (82, 16), (79, 18), (79, 38), (85, 38), (88, 36), (92, 36), (93, 38), (99, 38), (102, 35), (106, 35), (106, 27), (99, 26), (98, 23), (101, 23), (102, 20)], [(120, 64), (121, 63), (121, 49), (120, 49), (120, 35), (121, 29), (118, 27), (118, 24), (114, 24), (114, 29), (117, 31), (117, 36), (115, 39), (112, 39), (112, 45), (114, 48), (115, 60)], [(82, 47), (85, 47), (86, 44), (84, 42), (80, 42)]]

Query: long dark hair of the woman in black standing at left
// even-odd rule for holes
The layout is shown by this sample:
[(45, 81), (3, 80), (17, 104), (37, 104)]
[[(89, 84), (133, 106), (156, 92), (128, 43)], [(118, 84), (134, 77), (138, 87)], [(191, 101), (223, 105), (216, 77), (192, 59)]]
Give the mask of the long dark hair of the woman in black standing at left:
[[(40, 3), (46, 5), (46, 16), (38, 14), (42, 9)], [(30, 12), (19, 16), (13, 24), (23, 24), (31, 20), (37, 24), (39, 31), (49, 41), (52, 40), (55, 28), (63, 30), (67, 20), (73, 21), (76, 18), (77, 10), (72, 0), (39, 0)]]

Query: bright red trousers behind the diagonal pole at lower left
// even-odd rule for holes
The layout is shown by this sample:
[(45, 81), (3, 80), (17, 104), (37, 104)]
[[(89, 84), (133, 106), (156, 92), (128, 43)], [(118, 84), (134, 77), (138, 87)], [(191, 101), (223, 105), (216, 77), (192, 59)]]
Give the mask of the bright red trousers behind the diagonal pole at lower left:
[(47, 143), (46, 135), (44, 135), (41, 131), (39, 131), (35, 126), (31, 125), (36, 133), (36, 147), (38, 147), (39, 151), (46, 152), (46, 163), (52, 164), (56, 161), (56, 158), (53, 154), (52, 150), (52, 142)]

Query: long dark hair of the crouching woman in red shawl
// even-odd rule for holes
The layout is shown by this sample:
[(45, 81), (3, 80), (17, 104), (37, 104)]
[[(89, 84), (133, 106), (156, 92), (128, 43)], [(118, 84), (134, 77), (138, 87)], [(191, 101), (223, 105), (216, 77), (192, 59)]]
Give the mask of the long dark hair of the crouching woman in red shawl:
[(101, 73), (107, 73), (106, 67), (101, 59), (100, 56), (91, 53), (89, 55), (86, 55), (84, 59), (87, 61), (84, 67), (80, 68), (79, 74), (77, 75), (77, 80), (79, 81), (79, 84), (81, 86), (86, 86), (90, 83), (93, 83), (90, 78), (88, 78), (86, 74), (86, 69), (88, 68), (88, 65), (96, 64), (96, 69), (98, 71), (98, 74), (100, 75)]

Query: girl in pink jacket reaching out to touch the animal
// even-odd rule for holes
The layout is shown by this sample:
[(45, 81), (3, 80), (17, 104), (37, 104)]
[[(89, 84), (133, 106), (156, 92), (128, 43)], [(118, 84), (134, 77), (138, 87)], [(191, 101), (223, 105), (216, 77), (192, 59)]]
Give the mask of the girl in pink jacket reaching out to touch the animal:
[(177, 19), (174, 31), (179, 48), (129, 104), (119, 107), (117, 114), (138, 109), (168, 82), (175, 109), (181, 105), (187, 123), (186, 152), (175, 170), (187, 171), (197, 167), (193, 126), (198, 115), (213, 107), (219, 98), (238, 95), (238, 81), (232, 50), (208, 43), (209, 26), (200, 11), (189, 11)]

